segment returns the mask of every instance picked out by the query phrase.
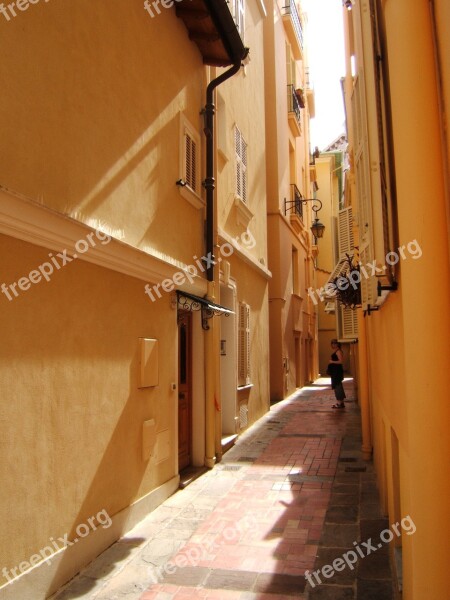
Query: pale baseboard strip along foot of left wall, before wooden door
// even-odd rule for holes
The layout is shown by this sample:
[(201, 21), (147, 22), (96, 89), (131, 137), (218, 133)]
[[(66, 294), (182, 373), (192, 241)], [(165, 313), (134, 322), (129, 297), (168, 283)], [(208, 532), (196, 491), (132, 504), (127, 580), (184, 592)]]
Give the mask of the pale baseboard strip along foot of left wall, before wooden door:
[(133, 529), (149, 512), (155, 510), (176, 492), (179, 484), (179, 475), (172, 477), (131, 506), (114, 515), (111, 519), (112, 524), (107, 529), (98, 527), (88, 536), (79, 538), (79, 543), (61, 549), (49, 557), (48, 562), (39, 563), (11, 583), (2, 586), (0, 598), (2, 600), (48, 598), (111, 544)]

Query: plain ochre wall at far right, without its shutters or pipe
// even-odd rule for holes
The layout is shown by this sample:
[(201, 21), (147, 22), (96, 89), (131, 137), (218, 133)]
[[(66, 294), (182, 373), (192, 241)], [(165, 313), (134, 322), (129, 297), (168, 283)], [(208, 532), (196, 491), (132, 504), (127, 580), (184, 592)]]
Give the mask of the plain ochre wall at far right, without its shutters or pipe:
[[(406, 248), (406, 257), (399, 261), (398, 291), (366, 317), (371, 430), (381, 499), (390, 523), (409, 515), (416, 526), (414, 534), (402, 536), (405, 600), (448, 595), (450, 268), (442, 138), (448, 117), (438, 103), (429, 4), (383, 4), (399, 246)], [(435, 4), (445, 12), (443, 3)], [(439, 21), (438, 29), (440, 49), (445, 50), (448, 20)], [(445, 69), (445, 51), (443, 56)], [(445, 82), (448, 77), (447, 68)], [(369, 123), (372, 139), (376, 127)], [(411, 242), (421, 249), (416, 259), (407, 250)]]

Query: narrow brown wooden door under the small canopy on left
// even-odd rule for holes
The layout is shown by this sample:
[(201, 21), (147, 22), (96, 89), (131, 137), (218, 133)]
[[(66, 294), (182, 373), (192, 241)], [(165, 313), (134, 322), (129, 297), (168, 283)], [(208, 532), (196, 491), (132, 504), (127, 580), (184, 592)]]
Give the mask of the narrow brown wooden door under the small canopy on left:
[(178, 468), (180, 471), (191, 464), (191, 324), (191, 313), (180, 313), (178, 322)]

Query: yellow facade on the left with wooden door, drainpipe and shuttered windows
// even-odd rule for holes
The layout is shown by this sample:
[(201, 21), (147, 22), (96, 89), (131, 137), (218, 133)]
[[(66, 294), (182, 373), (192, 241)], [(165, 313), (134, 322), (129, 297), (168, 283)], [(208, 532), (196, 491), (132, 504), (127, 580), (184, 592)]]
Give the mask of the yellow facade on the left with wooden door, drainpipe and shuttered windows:
[(264, 4), (165, 4), (0, 14), (2, 598), (269, 408)]

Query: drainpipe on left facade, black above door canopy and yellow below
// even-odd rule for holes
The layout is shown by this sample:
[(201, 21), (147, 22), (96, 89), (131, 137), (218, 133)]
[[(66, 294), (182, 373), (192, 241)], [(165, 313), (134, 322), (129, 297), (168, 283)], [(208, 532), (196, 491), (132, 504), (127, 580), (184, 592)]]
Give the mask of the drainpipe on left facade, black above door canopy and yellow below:
[[(214, 90), (230, 77), (233, 77), (241, 68), (241, 60), (235, 60), (234, 65), (225, 71), (216, 79), (213, 79), (206, 90), (205, 115), (205, 135), (206, 135), (206, 178), (203, 183), (206, 189), (206, 257), (208, 264), (206, 269), (206, 278), (208, 281), (207, 295), (210, 300), (215, 300), (214, 290), (214, 114), (216, 112), (214, 105)], [(220, 448), (217, 437), (221, 436), (220, 431), (220, 405), (219, 405), (219, 358), (215, 349), (217, 337), (217, 327), (214, 326), (215, 319), (210, 320), (210, 329), (206, 331), (205, 339), (205, 466), (212, 469), (216, 462), (216, 450)], [(217, 413), (217, 414), (216, 414)], [(216, 418), (217, 417), (217, 418)], [(217, 421), (217, 423), (216, 423)], [(221, 447), (221, 444), (220, 444)]]

